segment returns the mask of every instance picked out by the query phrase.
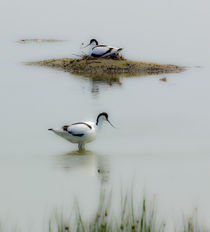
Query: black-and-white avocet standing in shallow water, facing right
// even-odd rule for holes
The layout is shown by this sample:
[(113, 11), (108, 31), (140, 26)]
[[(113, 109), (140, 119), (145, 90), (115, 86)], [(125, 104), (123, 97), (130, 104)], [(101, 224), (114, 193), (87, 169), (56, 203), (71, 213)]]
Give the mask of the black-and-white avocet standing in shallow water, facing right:
[(105, 121), (114, 127), (108, 119), (108, 114), (103, 112), (98, 115), (96, 122), (77, 122), (62, 126), (61, 128), (51, 128), (48, 130), (53, 131), (71, 143), (78, 143), (79, 151), (82, 151), (85, 149), (86, 143), (90, 143), (96, 139), (96, 134)]

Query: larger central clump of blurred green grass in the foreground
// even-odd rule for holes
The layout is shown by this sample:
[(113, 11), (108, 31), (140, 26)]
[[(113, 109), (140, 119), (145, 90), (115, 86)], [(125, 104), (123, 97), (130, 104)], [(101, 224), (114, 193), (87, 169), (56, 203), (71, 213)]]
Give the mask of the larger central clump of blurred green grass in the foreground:
[(75, 207), (73, 220), (66, 221), (58, 212), (49, 222), (49, 232), (164, 232), (164, 223), (156, 221), (154, 207), (148, 207), (143, 199), (139, 208), (134, 208), (133, 199), (121, 198), (119, 215), (111, 213), (111, 195), (100, 196), (97, 211), (89, 219), (84, 219), (78, 206)]

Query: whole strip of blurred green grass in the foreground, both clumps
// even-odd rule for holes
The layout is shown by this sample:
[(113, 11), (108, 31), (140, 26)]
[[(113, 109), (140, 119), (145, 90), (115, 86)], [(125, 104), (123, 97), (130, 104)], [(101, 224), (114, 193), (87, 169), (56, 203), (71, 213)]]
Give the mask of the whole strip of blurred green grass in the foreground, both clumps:
[[(57, 211), (49, 221), (48, 232), (169, 232), (155, 207), (154, 200), (145, 198), (138, 204), (133, 194), (121, 195), (121, 209), (113, 213), (111, 194), (101, 192), (98, 209), (88, 219), (84, 218), (78, 204), (72, 211), (73, 217), (66, 220)], [(171, 231), (171, 230), (170, 230)], [(198, 223), (197, 212), (192, 217), (183, 218), (174, 232), (207, 232)]]

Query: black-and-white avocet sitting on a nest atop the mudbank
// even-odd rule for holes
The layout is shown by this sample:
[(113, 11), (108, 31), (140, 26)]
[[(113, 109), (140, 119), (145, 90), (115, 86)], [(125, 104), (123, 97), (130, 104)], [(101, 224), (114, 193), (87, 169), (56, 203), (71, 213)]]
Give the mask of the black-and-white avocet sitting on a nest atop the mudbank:
[[(108, 45), (100, 45), (96, 39), (91, 39), (89, 55), (92, 57), (108, 57), (118, 54), (123, 48), (116, 48)], [(87, 47), (86, 46), (86, 47)]]

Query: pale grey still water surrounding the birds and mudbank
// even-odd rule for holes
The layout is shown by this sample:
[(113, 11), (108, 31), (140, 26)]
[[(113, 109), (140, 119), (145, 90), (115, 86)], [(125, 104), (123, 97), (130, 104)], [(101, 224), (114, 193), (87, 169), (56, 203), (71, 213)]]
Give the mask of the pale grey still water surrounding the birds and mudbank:
[[(210, 226), (209, 2), (3, 0), (0, 6), (0, 218), (38, 231), (54, 207), (70, 207), (75, 196), (92, 210), (104, 179), (116, 191), (133, 180), (137, 191), (157, 195), (169, 224), (198, 207)], [(201, 68), (110, 86), (22, 63), (71, 57), (94, 37), (124, 47), (131, 59)], [(68, 41), (16, 43), (25, 38)], [(159, 81), (163, 76), (167, 83)], [(87, 156), (70, 155), (76, 147), (47, 131), (94, 120), (101, 111), (118, 129), (107, 125)]]

